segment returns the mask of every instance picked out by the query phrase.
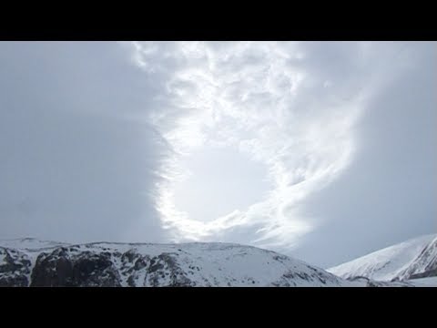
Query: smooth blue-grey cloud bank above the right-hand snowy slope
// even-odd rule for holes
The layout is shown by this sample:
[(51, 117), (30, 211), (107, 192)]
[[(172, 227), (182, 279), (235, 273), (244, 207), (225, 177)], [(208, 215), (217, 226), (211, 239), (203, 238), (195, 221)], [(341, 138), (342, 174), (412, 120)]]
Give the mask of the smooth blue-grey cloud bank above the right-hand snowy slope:
[(371, 58), (380, 60), (372, 59), (356, 155), (339, 179), (300, 208), (320, 223), (301, 239), (296, 256), (330, 267), (435, 232), (436, 55), (430, 42), (375, 48)]

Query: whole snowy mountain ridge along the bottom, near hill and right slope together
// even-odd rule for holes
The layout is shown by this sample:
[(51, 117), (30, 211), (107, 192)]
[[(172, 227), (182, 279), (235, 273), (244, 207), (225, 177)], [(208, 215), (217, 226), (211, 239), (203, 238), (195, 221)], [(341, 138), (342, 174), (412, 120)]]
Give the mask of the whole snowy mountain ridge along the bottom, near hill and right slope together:
[[(343, 263), (328, 271), (275, 251), (238, 243), (0, 240), (0, 286), (437, 286), (436, 237), (427, 235), (404, 241), (351, 261), (353, 265)], [(359, 269), (362, 266), (369, 269), (373, 265), (376, 269), (370, 269), (370, 272), (387, 267), (392, 271), (391, 261), (379, 265), (374, 253), (378, 255), (382, 251), (390, 257), (402, 253), (402, 250), (410, 251), (410, 257), (415, 259), (397, 271), (403, 272), (403, 276), (394, 275), (394, 278), (383, 280), (378, 275), (366, 275), (369, 270), (357, 271), (357, 262), (361, 262)], [(381, 260), (381, 256), (378, 259)], [(405, 260), (405, 256), (402, 259)]]

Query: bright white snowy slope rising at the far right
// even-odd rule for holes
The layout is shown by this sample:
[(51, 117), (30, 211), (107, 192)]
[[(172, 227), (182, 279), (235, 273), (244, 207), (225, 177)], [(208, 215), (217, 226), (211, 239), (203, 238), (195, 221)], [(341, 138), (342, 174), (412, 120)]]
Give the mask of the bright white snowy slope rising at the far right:
[(437, 270), (437, 235), (426, 235), (374, 251), (328, 269), (344, 279), (367, 277), (375, 281), (405, 281), (433, 276)]

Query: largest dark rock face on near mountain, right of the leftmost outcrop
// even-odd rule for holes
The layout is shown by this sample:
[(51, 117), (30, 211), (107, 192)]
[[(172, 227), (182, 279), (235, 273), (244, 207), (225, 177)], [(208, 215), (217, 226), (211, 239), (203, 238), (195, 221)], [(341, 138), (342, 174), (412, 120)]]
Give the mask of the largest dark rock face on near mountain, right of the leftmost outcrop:
[[(178, 266), (177, 254), (162, 253), (150, 258), (132, 250), (125, 253), (74, 250), (61, 248), (40, 254), (30, 286), (121, 287), (123, 278), (131, 287), (138, 284), (158, 287), (163, 281), (170, 287), (196, 285)], [(139, 281), (141, 278), (143, 281)]]

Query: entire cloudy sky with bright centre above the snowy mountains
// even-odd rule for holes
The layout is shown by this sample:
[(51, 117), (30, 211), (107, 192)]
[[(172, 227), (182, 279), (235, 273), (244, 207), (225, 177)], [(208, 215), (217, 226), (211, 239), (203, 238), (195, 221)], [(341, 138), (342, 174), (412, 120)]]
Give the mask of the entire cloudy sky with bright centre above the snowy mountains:
[(437, 232), (435, 42), (0, 42), (0, 239), (328, 268)]

